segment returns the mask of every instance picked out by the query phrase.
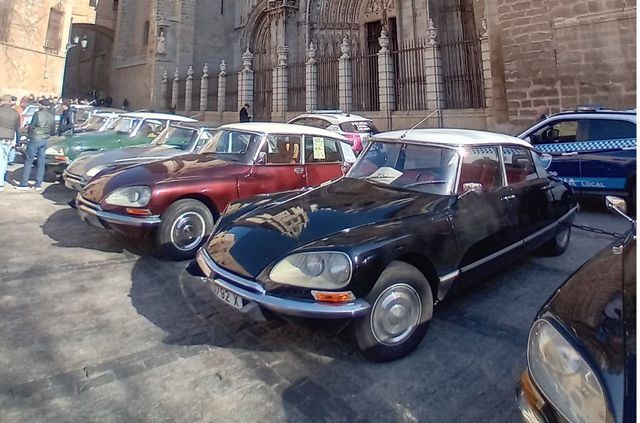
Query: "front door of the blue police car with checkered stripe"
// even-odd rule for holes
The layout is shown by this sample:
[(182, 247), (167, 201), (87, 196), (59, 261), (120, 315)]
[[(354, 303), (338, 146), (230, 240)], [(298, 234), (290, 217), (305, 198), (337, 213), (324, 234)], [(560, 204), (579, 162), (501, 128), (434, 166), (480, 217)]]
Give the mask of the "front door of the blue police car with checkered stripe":
[(572, 186), (580, 178), (577, 133), (577, 119), (550, 119), (527, 135), (536, 150), (551, 155), (549, 172), (557, 173)]

